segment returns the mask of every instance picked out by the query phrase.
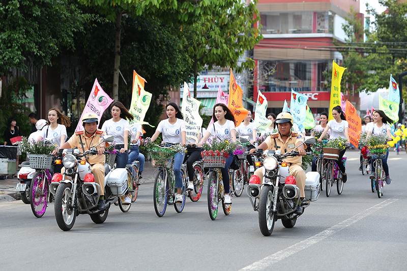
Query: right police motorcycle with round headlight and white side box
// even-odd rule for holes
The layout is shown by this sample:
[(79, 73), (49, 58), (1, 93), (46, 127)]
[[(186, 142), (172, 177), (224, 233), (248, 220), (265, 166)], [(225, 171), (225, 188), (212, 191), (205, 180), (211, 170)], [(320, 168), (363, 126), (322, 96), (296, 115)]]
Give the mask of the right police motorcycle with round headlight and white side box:
[[(313, 144), (315, 137), (305, 137), (304, 144)], [(298, 147), (298, 146), (297, 146)], [(273, 232), (274, 222), (281, 219), (284, 227), (292, 228), (301, 215), (295, 214), (300, 197), (300, 189), (296, 179), (289, 174), (289, 166), (283, 162), (285, 158), (298, 156), (297, 147), (291, 152), (281, 154), (280, 150), (256, 149), (255, 155), (263, 164), (263, 185), (254, 176), (246, 188), (252, 207), (258, 212), (258, 224), (263, 235), (269, 236)], [(248, 154), (248, 153), (245, 153)], [(307, 153), (310, 155), (312, 153)], [(319, 196), (319, 173), (307, 172), (305, 181), (305, 198), (300, 206), (308, 207), (311, 201)]]

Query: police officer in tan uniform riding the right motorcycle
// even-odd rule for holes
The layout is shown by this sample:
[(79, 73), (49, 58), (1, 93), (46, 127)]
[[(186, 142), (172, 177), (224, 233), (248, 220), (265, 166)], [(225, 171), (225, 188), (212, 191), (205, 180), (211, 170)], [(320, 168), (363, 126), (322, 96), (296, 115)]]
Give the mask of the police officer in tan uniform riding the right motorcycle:
[[(271, 134), (267, 139), (261, 143), (258, 148), (263, 150), (274, 149), (280, 150), (281, 154), (290, 152), (294, 150), (295, 147), (300, 145), (297, 148), (300, 156), (288, 157), (284, 159), (284, 162), (287, 162), (289, 166), (289, 173), (296, 178), (297, 187), (300, 189), (300, 197), (303, 199), (305, 197), (304, 187), (305, 187), (305, 171), (302, 169), (302, 159), (301, 156), (305, 155), (304, 145), (302, 140), (297, 139), (297, 133), (293, 133), (291, 128), (293, 127), (293, 116), (288, 112), (282, 112), (277, 115), (275, 123), (278, 127), (278, 133)], [(277, 146), (276, 146), (277, 145)], [(250, 153), (254, 153), (255, 149), (251, 149)], [(260, 167), (254, 171), (254, 175), (259, 176), (260, 182), (263, 182), (263, 168)], [(302, 207), (298, 205), (296, 214), (302, 214)]]

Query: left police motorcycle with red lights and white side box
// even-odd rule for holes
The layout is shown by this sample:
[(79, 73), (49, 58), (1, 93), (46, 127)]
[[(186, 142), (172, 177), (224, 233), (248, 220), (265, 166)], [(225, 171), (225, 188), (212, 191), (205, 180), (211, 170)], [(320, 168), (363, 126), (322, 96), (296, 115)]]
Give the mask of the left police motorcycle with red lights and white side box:
[[(101, 143), (112, 141), (113, 136), (104, 135)], [(64, 149), (62, 152), (64, 174), (55, 173), (52, 177), (50, 191), (55, 197), (55, 219), (64, 231), (73, 227), (79, 214), (90, 215), (96, 224), (105, 222), (110, 205), (118, 201), (128, 189), (127, 170), (125, 168), (111, 170), (105, 163), (105, 208), (98, 209), (101, 187), (95, 182), (91, 165), (82, 160), (85, 156), (97, 155), (98, 145), (82, 154), (78, 148)]]

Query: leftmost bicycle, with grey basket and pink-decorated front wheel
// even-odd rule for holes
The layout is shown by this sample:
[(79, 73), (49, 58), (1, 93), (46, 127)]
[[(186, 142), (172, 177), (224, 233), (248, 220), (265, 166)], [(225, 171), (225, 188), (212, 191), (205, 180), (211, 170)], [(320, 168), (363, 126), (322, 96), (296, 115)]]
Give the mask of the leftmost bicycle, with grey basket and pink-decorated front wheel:
[[(30, 157), (30, 167), (36, 170), (30, 186), (31, 210), (35, 217), (41, 218), (47, 208), (49, 185), (52, 179), (49, 169), (55, 163), (55, 156), (30, 154), (28, 157)], [(61, 160), (59, 160), (59, 163), (61, 163)]]

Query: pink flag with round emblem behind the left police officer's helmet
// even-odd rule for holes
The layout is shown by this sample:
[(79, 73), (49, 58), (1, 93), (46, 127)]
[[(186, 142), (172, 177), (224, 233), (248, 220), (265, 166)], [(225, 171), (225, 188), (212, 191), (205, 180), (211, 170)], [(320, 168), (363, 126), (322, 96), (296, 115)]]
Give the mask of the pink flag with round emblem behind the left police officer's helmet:
[(95, 83), (92, 87), (91, 95), (89, 96), (88, 101), (86, 102), (85, 108), (83, 109), (82, 115), (80, 116), (78, 126), (76, 127), (75, 131), (83, 130), (82, 126), (82, 117), (86, 113), (95, 113), (98, 116), (98, 121), (100, 125), (100, 119), (102, 118), (103, 112), (109, 105), (113, 102), (111, 99), (102, 89), (100, 86), (98, 79), (95, 79)]

